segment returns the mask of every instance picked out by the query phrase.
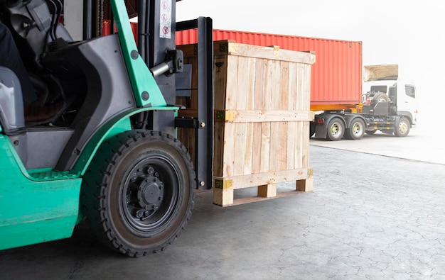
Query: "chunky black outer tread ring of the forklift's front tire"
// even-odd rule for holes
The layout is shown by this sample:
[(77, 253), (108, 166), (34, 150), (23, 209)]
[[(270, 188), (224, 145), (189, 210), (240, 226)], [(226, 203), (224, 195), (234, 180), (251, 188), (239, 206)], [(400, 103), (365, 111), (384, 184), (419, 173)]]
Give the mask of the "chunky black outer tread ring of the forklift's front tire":
[[(188, 208), (186, 217), (184, 218), (181, 226), (176, 230), (175, 235), (171, 236), (162, 245), (153, 248), (152, 250), (134, 250), (126, 247), (119, 239), (114, 235), (112, 229), (108, 225), (108, 217), (104, 215), (104, 200), (106, 194), (104, 194), (104, 181), (107, 176), (112, 172), (117, 159), (124, 154), (124, 150), (135, 145), (142, 138), (161, 139), (166, 142), (170, 142), (172, 145), (176, 145), (181, 151), (181, 155), (186, 159), (186, 164), (189, 169), (190, 176), (193, 176), (195, 181), (195, 172), (193, 172), (193, 163), (188, 150), (184, 147), (179, 140), (173, 138), (167, 133), (151, 130), (132, 130), (125, 133), (115, 135), (114, 138), (105, 140), (100, 148), (97, 150), (95, 157), (92, 159), (90, 166), (85, 172), (84, 180), (82, 182), (82, 189), (80, 194), (80, 201), (82, 205), (82, 213), (87, 220), (87, 224), (97, 236), (100, 242), (108, 245), (113, 250), (117, 250), (123, 254), (127, 254), (130, 257), (140, 257), (146, 254), (161, 252), (165, 250), (171, 242), (182, 233), (186, 228), (188, 220), (191, 218), (191, 213), (194, 207), (194, 191), (191, 186), (191, 206)], [(95, 208), (95, 205), (99, 205), (100, 208)]]

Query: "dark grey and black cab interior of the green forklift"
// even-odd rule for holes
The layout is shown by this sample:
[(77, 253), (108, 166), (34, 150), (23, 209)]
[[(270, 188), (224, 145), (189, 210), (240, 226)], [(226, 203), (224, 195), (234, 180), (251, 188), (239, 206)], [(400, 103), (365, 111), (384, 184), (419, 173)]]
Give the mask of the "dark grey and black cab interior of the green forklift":
[(57, 119), (28, 123), (16, 75), (0, 70), (0, 128), (26, 169), (73, 169), (95, 132), (136, 106), (117, 35), (74, 42), (58, 23), (62, 9), (59, 0), (0, 0), (42, 105), (64, 104)]

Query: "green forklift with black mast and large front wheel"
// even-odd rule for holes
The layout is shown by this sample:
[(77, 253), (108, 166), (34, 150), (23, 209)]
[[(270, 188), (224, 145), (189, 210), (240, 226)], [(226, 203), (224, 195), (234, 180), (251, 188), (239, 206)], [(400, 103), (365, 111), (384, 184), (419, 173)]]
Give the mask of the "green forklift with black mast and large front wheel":
[[(137, 45), (126, 4), (139, 18)], [(116, 27), (102, 36), (107, 5)], [(68, 238), (84, 221), (117, 252), (159, 252), (186, 227), (195, 189), (212, 186), (212, 21), (176, 23), (175, 0), (85, 0), (82, 13), (75, 41), (60, 23), (62, 1), (0, 1), (42, 102), (64, 104), (26, 121), (21, 81), (0, 67), (0, 250)], [(191, 73), (175, 32), (191, 28), (200, 105), (198, 118), (178, 118), (176, 83)], [(195, 128), (198, 166), (178, 127)]]

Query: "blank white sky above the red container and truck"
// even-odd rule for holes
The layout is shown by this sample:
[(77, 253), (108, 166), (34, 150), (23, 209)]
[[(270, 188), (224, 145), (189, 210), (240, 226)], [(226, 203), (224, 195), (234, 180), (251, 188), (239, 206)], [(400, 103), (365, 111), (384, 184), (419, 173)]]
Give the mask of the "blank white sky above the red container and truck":
[[(183, 0), (176, 21), (213, 28), (363, 42), (363, 65), (398, 64), (417, 86), (422, 119), (445, 103), (445, 8), (438, 0)], [(433, 110), (431, 110), (431, 106)]]

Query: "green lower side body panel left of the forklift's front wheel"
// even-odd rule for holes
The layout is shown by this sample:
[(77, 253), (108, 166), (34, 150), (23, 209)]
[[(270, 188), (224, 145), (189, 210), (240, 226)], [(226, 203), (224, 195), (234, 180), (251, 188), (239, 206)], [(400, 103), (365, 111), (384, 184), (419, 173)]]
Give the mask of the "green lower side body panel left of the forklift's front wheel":
[(26, 172), (9, 138), (0, 135), (0, 182), (0, 250), (73, 234), (82, 179), (50, 170)]

